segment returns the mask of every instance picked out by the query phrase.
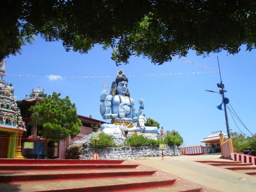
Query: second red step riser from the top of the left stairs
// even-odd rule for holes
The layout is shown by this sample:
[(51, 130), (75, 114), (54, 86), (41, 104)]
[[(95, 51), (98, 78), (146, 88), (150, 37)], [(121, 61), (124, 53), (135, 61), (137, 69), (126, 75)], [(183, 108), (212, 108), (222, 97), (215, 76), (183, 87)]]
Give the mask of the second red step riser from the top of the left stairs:
[(70, 170), (70, 169), (123, 169), (136, 168), (138, 165), (122, 165), (122, 164), (76, 164), (76, 165), (0, 165), (1, 171), (17, 171), (17, 170)]

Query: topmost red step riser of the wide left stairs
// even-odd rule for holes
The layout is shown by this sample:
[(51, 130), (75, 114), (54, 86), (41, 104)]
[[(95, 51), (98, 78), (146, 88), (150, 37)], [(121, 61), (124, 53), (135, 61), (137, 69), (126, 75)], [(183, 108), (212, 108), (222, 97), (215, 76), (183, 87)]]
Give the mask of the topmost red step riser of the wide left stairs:
[(121, 164), (124, 160), (84, 160), (84, 159), (0, 159), (0, 165), (33, 164)]

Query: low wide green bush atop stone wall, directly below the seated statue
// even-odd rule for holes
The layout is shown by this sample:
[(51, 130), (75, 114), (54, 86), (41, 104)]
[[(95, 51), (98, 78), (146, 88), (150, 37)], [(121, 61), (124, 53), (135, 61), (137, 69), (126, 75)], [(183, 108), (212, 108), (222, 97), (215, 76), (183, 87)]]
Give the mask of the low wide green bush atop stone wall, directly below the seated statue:
[(143, 137), (143, 135), (134, 134), (128, 137), (124, 142), (125, 146), (139, 147), (139, 146), (159, 146), (158, 140)]

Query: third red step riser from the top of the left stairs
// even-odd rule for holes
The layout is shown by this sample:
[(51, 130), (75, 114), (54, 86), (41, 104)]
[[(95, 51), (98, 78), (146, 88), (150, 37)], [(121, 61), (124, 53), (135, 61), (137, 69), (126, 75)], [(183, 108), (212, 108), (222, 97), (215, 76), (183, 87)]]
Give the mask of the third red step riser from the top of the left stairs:
[(93, 178), (120, 178), (120, 177), (149, 177), (156, 171), (119, 171), (119, 172), (89, 172), (89, 173), (53, 173), (53, 174), (22, 174), (22, 175), (0, 175), (0, 184), (5, 183), (31, 183), (31, 182), (53, 182), (57, 180), (93, 179)]

